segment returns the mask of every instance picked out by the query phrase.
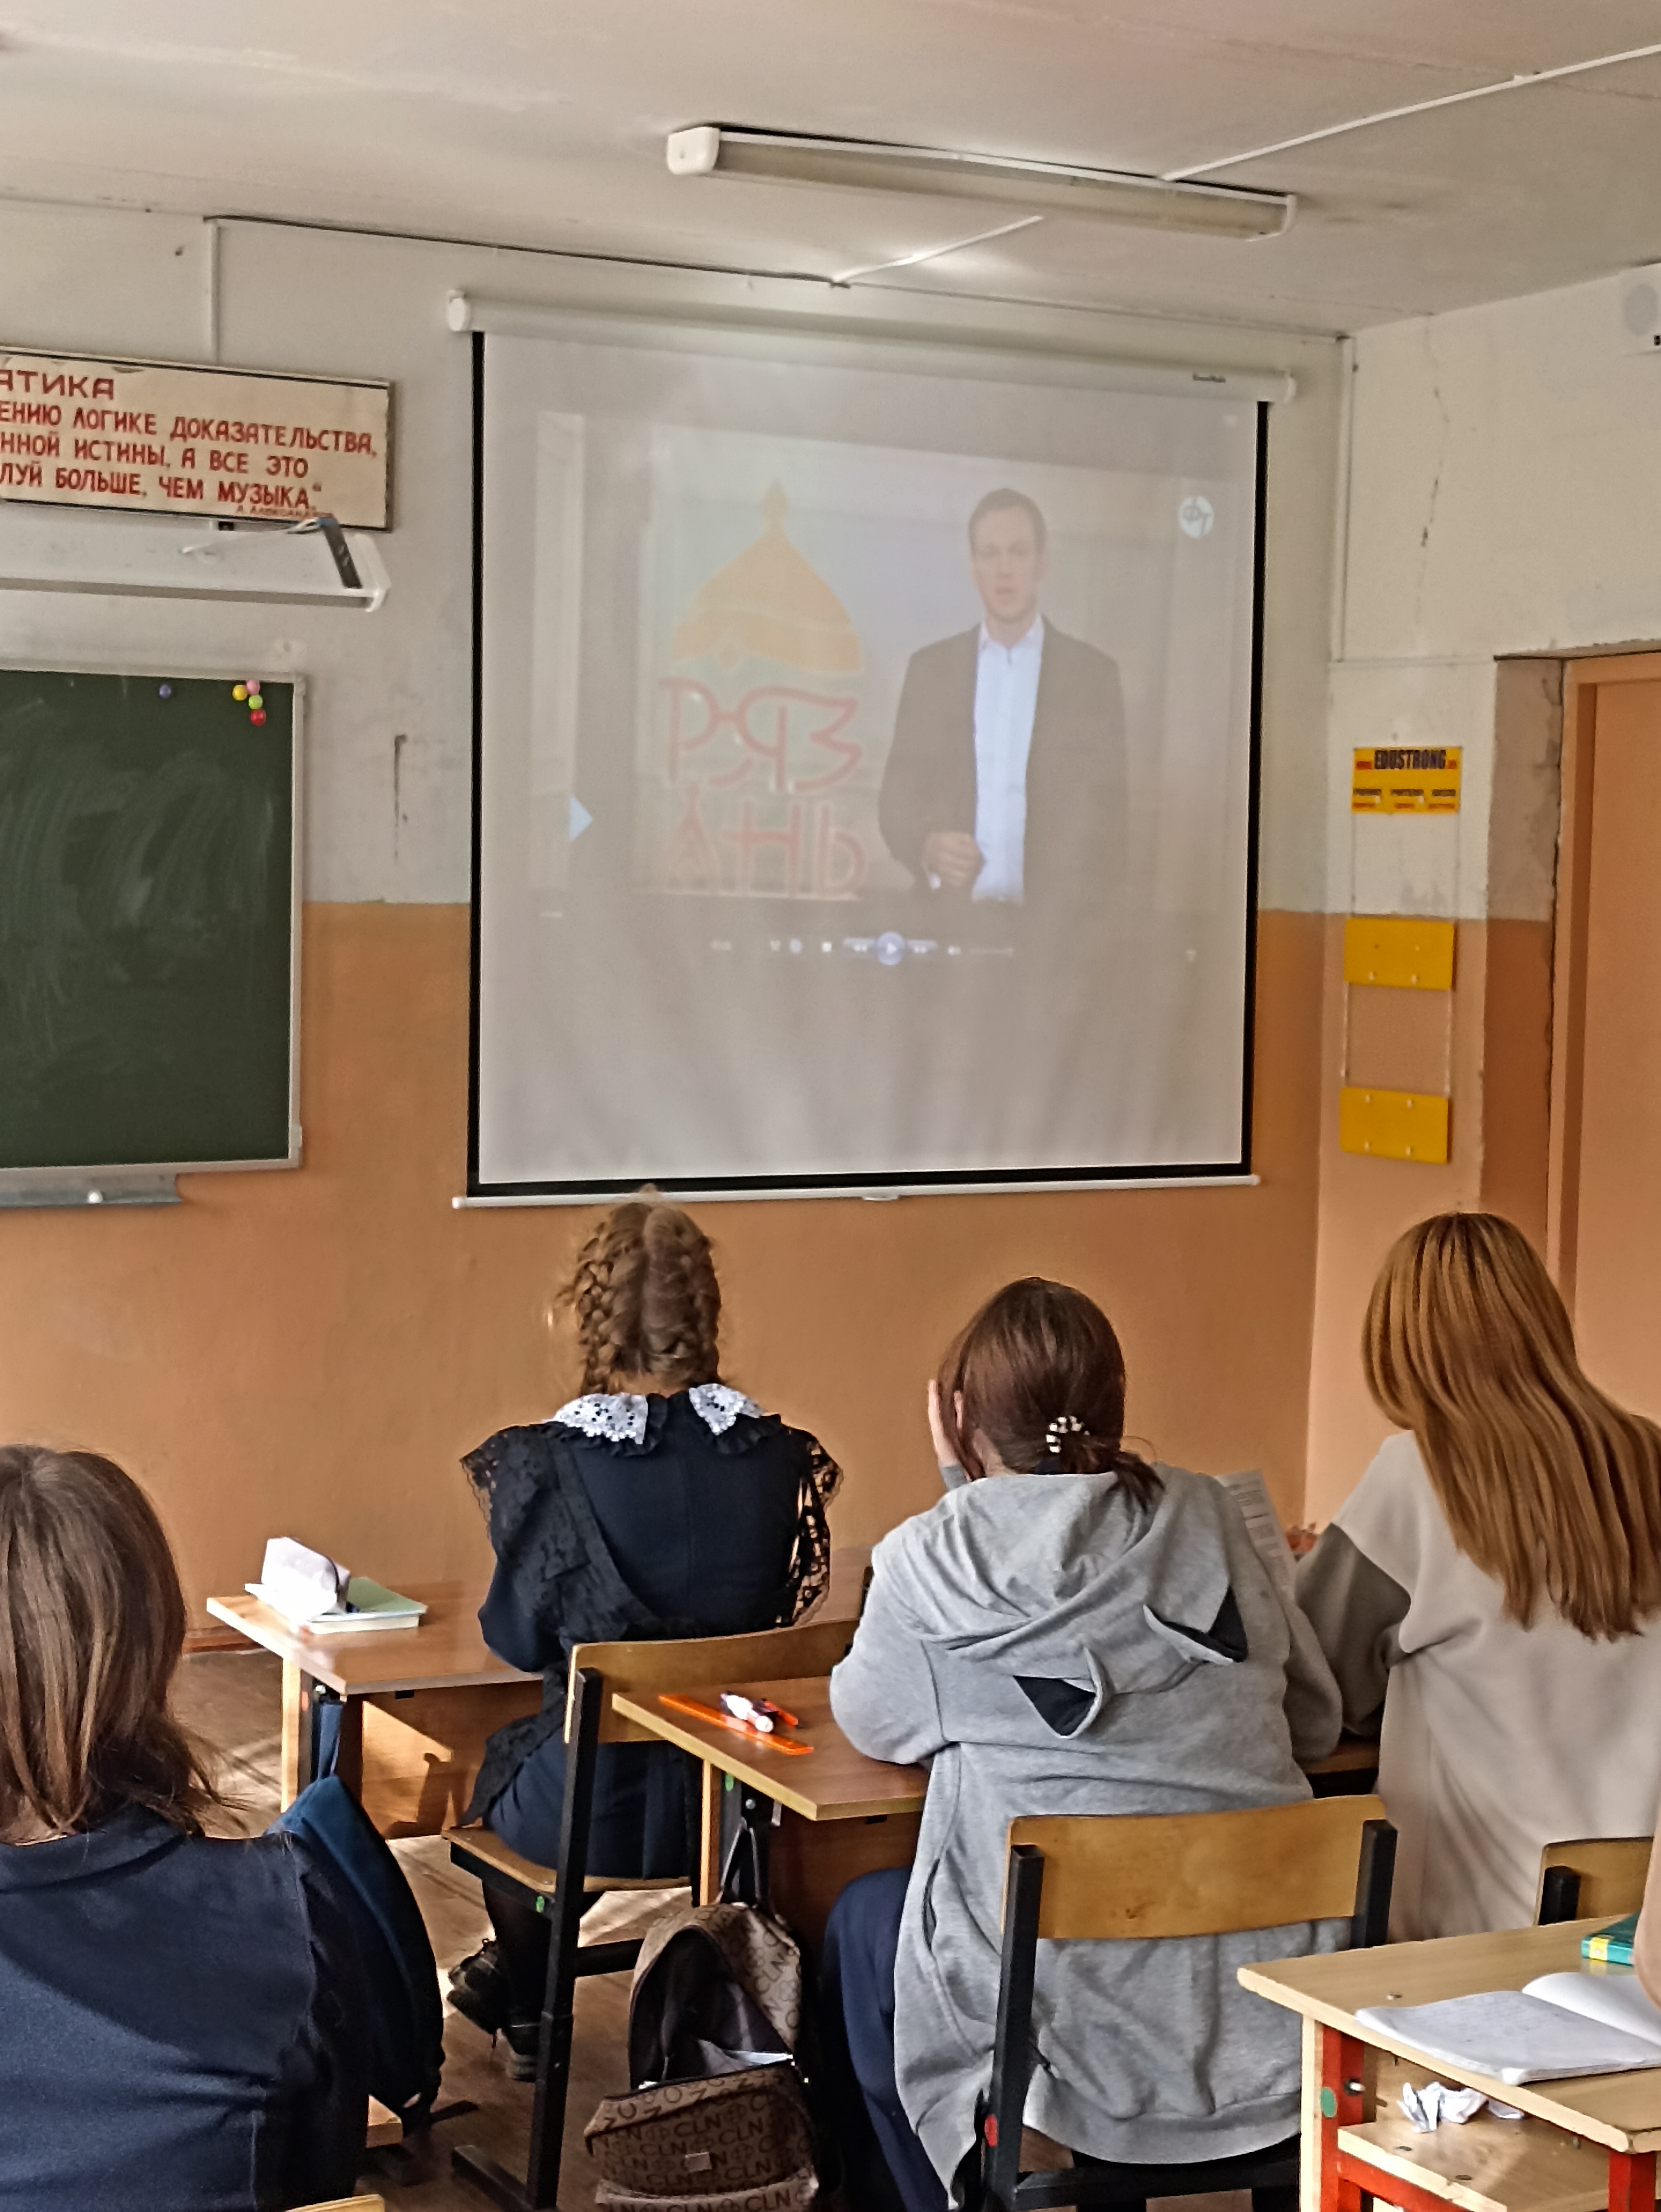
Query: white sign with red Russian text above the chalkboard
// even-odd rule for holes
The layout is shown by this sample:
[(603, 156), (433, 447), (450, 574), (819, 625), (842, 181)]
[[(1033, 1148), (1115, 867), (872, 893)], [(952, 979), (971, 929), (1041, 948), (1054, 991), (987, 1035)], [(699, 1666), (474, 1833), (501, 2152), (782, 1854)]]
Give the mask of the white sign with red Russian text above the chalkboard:
[(389, 385), (0, 352), (0, 500), (387, 526)]

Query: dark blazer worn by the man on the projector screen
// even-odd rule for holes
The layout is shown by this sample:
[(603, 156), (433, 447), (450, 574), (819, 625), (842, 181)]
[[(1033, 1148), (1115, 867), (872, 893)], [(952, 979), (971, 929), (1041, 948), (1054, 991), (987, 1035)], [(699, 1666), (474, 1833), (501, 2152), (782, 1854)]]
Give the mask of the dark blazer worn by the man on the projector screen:
[[(882, 770), (878, 825), (896, 860), (927, 885), (922, 843), (975, 834), (975, 684), (980, 628), (911, 655)], [(1044, 659), (1026, 757), (1028, 907), (1104, 902), (1126, 863), (1126, 737), (1119, 668), (1044, 624)], [(958, 894), (969, 896), (969, 894)]]

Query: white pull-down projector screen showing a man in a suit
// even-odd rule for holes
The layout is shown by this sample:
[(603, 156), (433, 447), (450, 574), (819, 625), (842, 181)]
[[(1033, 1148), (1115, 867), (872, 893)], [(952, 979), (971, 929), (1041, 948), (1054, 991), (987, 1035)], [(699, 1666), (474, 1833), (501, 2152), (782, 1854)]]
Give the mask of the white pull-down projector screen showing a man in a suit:
[(471, 1194), (1247, 1172), (1267, 407), (473, 345)]

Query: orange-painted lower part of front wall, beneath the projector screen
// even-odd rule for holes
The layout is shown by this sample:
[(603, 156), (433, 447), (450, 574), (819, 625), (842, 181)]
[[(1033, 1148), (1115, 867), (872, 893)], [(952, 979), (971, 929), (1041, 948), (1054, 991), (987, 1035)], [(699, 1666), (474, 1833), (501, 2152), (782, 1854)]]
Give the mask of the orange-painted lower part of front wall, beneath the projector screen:
[[(843, 1542), (936, 1495), (924, 1380), (973, 1305), (1055, 1274), (1112, 1314), (1130, 1425), (1177, 1462), (1263, 1467), (1303, 1504), (1323, 918), (1258, 922), (1258, 1188), (703, 1208), (728, 1369), (847, 1469)], [(157, 1212), (0, 1214), (0, 1429), (111, 1453), (155, 1495), (192, 1604), (299, 1535), (387, 1582), (489, 1546), (458, 1455), (549, 1413), (551, 1285), (593, 1219), (456, 1212), (467, 911), (314, 905), (296, 1172), (203, 1175)]]

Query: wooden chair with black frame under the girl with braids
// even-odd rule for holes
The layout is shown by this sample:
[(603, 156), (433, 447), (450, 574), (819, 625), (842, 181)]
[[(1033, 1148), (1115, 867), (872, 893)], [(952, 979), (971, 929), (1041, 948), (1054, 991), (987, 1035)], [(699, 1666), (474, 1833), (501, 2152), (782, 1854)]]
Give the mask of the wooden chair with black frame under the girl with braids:
[[(854, 1637), (854, 1621), (807, 1621), (801, 1628), (763, 1628), (748, 1637), (697, 1637), (681, 1644), (579, 1644), (571, 1655), (566, 1690), (566, 1794), (560, 1812), (560, 1858), (537, 1867), (509, 1851), (489, 1827), (445, 1832), (449, 1856), (480, 1880), (509, 1889), (533, 1911), (549, 1913), (549, 1980), (542, 1997), (531, 2154), (526, 2179), (509, 2174), (471, 2143), (451, 2152), (453, 2170), (506, 2212), (546, 2212), (560, 2199), (566, 2095), (571, 2088), (571, 2031), (577, 1982), (591, 1973), (621, 1973), (639, 1958), (639, 1942), (577, 1942), (582, 1898), (593, 1889), (679, 1889), (683, 1876), (639, 1878), (588, 1874), (588, 1816), (595, 1796), (595, 1756), (602, 1743), (661, 1743), (639, 1721), (613, 1710), (615, 1690), (694, 1690), (719, 1681), (779, 1681), (829, 1674)], [(714, 1798), (706, 1770), (703, 1887), (708, 1889)]]

